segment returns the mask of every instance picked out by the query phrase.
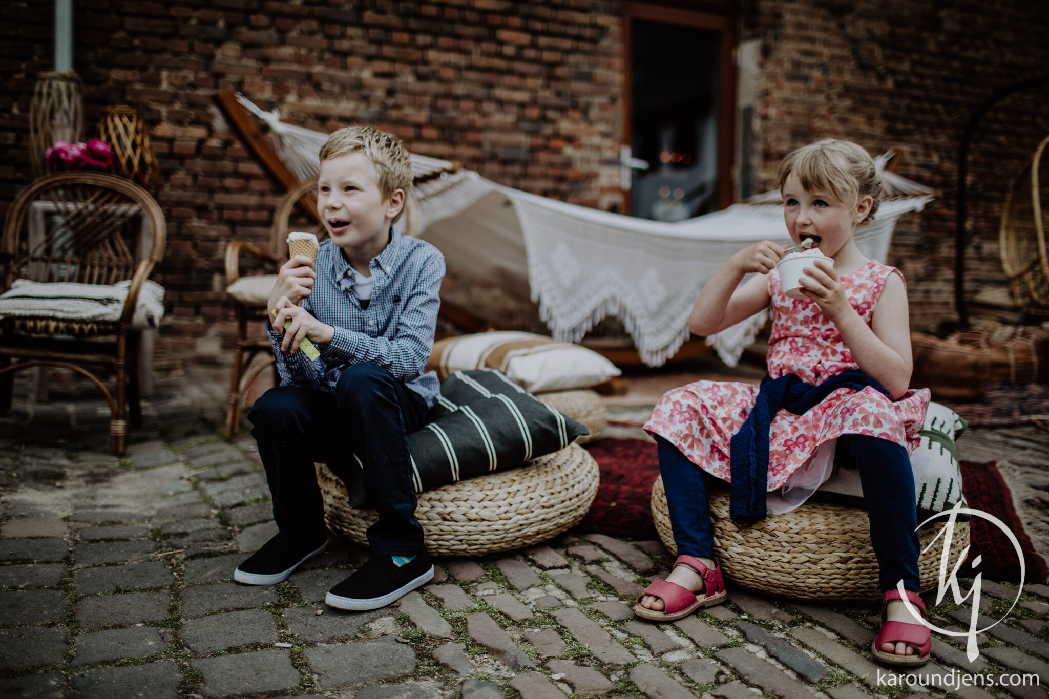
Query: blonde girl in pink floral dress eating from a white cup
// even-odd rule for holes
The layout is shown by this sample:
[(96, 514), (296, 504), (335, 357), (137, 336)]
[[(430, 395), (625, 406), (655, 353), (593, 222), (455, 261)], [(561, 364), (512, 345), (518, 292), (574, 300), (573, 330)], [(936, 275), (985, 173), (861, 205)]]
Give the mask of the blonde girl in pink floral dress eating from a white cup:
[[(720, 332), (772, 305), (769, 376), (761, 391), (701, 380), (657, 403), (645, 430), (659, 447), (679, 558), (666, 581), (638, 595), (635, 611), (670, 620), (727, 596), (713, 560), (703, 471), (732, 482), (732, 518), (738, 514), (737, 521), (752, 522), (765, 516), (766, 489), (790, 486), (817, 449), (836, 440), (838, 460), (860, 471), (884, 593), (872, 652), (890, 663), (922, 664), (929, 632), (915, 624), (897, 584), (902, 581), (907, 598), (924, 614), (917, 595), (919, 540), (908, 454), (918, 444), (929, 392), (907, 390), (911, 337), (902, 276), (856, 247), (856, 228), (873, 219), (881, 195), (874, 161), (855, 144), (821, 140), (784, 159), (779, 191), (791, 239), (812, 239), (833, 265), (816, 260), (806, 267), (806, 298), (790, 299), (776, 269), (784, 248), (763, 241), (734, 255), (695, 300), (689, 327), (698, 335)], [(748, 272), (758, 275), (741, 286)], [(754, 419), (744, 428), (748, 417)], [(756, 445), (745, 449), (742, 435), (733, 443), (741, 428)], [(763, 466), (744, 467), (755, 462)], [(754, 481), (755, 474), (758, 498), (748, 506), (745, 477)]]

